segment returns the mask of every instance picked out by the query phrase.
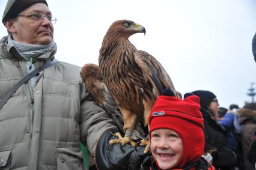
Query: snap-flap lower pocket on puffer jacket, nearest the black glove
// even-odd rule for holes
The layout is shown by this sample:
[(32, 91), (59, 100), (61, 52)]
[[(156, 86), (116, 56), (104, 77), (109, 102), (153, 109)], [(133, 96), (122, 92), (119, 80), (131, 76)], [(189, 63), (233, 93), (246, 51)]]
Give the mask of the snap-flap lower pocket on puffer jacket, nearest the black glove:
[(85, 169), (82, 151), (79, 148), (56, 148), (58, 170)]

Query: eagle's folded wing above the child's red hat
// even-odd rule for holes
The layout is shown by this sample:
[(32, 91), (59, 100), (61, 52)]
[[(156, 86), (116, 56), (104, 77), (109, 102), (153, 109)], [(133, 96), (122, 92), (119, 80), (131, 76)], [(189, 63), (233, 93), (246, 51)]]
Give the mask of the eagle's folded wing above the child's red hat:
[(164, 88), (170, 88), (176, 95), (171, 78), (156, 58), (145, 51), (138, 50), (135, 52), (135, 62), (141, 67), (145, 81), (151, 83), (157, 96)]

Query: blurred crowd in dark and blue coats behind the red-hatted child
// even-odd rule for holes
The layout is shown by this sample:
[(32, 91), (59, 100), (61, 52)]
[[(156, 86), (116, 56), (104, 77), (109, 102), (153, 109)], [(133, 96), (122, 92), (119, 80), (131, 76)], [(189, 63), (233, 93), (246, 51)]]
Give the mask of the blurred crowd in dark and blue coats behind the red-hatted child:
[(216, 151), (203, 157), (216, 169), (255, 170), (256, 103), (224, 108), (210, 91), (192, 93), (200, 97), (204, 135), (216, 147)]

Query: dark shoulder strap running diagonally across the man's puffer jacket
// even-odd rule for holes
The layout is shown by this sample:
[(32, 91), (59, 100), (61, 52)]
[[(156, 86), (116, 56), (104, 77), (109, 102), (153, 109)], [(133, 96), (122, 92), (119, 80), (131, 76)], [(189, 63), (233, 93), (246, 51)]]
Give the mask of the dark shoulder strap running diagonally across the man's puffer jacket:
[(2, 109), (2, 107), (5, 105), (5, 103), (7, 102), (7, 100), (11, 97), (11, 95), (13, 95), (13, 93), (23, 85), (23, 83), (27, 82), (29, 79), (31, 79), (32, 77), (35, 76), (35, 74), (39, 73), (41, 70), (43, 70), (44, 68), (50, 67), (50, 65), (55, 64), (56, 62), (58, 62), (58, 60), (56, 60), (55, 58), (53, 58), (52, 60), (44, 63), (43, 65), (41, 65), (40, 67), (36, 68), (34, 71), (32, 71), (31, 73), (29, 73), (28, 75), (26, 75), (25, 77), (23, 77), (19, 82), (16, 83), (16, 85), (14, 85), (14, 87), (12, 87), (4, 96), (4, 98), (2, 99), (1, 103), (0, 103), (0, 110)]

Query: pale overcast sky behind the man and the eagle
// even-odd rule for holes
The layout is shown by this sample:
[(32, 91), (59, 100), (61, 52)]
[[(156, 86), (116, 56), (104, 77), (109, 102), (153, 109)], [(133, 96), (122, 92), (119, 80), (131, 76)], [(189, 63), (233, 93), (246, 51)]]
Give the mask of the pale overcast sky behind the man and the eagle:
[[(0, 1), (4, 11), (7, 0)], [(58, 60), (98, 64), (103, 37), (115, 20), (143, 25), (147, 34), (130, 41), (153, 55), (182, 94), (209, 90), (220, 106), (245, 101), (256, 63), (251, 42), (256, 32), (255, 0), (47, 0), (57, 18)], [(2, 18), (2, 14), (1, 14)], [(0, 26), (0, 37), (7, 35)], [(256, 87), (256, 85), (254, 85)]]

